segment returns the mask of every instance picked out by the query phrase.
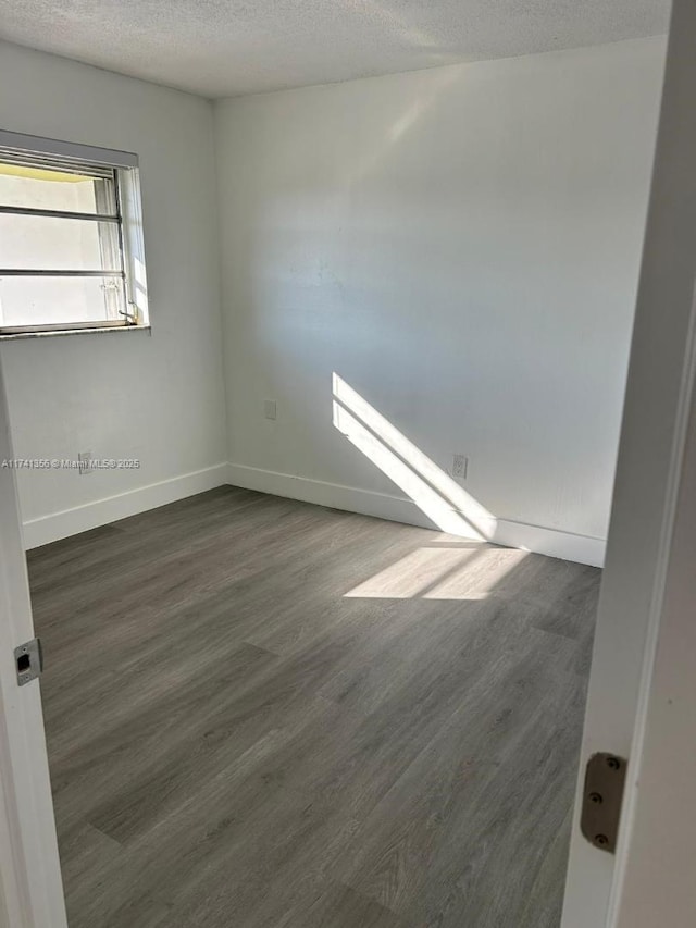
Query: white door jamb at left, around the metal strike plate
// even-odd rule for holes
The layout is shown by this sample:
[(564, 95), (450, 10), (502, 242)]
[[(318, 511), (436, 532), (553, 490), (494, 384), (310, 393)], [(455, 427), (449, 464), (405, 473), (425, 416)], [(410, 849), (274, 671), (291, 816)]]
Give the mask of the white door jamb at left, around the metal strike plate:
[[(0, 372), (0, 463), (12, 459)], [(34, 638), (14, 471), (0, 466), (0, 926), (65, 928), (40, 683), (17, 685)]]

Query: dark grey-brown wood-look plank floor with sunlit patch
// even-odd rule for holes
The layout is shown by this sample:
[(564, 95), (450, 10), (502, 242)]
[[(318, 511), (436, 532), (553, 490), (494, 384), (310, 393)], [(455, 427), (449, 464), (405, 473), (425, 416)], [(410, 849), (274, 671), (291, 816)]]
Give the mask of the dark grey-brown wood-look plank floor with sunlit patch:
[(599, 571), (232, 487), (28, 562), (71, 928), (558, 928)]

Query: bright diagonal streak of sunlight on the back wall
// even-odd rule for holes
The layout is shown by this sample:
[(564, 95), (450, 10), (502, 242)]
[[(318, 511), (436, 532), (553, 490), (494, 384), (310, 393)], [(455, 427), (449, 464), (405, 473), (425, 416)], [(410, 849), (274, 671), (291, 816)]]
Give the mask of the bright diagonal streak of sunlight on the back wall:
[(337, 373), (335, 428), (415, 503), (442, 532), (492, 541), (498, 520)]

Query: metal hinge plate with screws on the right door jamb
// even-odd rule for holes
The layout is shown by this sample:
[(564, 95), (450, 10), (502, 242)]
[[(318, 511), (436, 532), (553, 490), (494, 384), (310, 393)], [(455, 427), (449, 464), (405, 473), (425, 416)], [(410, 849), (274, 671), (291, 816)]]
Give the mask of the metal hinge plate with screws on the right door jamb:
[(610, 854), (617, 851), (627, 766), (616, 754), (595, 754), (585, 771), (580, 828), (591, 844)]

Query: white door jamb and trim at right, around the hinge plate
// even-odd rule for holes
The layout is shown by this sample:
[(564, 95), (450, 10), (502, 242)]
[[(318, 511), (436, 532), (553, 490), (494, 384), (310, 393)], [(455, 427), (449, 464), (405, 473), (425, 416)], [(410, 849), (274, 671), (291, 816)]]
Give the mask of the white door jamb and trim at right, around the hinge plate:
[[(696, 925), (695, 40), (674, 0), (562, 928)], [(629, 759), (616, 856), (580, 833), (597, 752)]]

